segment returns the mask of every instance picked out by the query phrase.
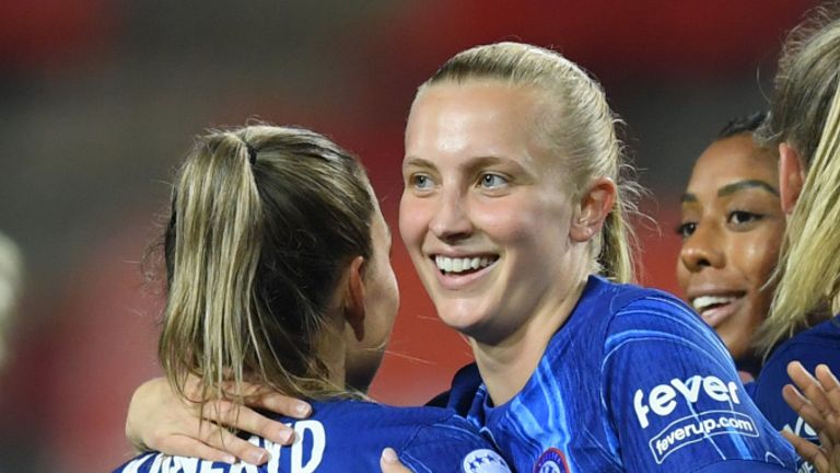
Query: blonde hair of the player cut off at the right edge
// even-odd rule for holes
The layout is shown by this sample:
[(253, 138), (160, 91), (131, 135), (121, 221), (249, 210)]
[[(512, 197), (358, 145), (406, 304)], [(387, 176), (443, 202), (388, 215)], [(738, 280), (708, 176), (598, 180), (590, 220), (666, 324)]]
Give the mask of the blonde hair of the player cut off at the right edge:
[(797, 151), (805, 181), (788, 220), (770, 313), (756, 345), (781, 341), (840, 310), (840, 20), (819, 8), (791, 32), (779, 61), (770, 118), (759, 140)]

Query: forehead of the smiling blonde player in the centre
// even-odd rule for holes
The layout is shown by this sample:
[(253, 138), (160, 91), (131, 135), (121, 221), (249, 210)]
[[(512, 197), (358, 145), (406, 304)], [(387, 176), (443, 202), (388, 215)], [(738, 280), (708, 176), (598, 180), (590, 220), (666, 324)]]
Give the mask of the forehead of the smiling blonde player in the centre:
[(427, 86), (411, 106), (406, 152), (497, 155), (535, 148), (538, 95), (494, 80)]

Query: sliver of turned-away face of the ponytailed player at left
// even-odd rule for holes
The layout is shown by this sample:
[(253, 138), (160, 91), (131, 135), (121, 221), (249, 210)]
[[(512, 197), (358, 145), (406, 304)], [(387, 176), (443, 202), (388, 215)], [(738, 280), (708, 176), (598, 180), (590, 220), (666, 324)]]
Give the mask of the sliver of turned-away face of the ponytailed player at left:
[(366, 391), (380, 368), (399, 308), (399, 289), (390, 266), (390, 231), (378, 206), (371, 227), (373, 256), (364, 262), (364, 337), (352, 339), (347, 383)]

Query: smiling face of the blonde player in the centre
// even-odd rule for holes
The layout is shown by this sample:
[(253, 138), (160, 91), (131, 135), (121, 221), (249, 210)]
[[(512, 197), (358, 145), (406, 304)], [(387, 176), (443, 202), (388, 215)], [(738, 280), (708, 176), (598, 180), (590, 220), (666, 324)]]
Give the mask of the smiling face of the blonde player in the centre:
[(538, 94), (495, 81), (439, 83), (406, 129), (399, 230), (450, 326), (498, 343), (550, 312), (570, 278), (570, 195), (535, 136)]

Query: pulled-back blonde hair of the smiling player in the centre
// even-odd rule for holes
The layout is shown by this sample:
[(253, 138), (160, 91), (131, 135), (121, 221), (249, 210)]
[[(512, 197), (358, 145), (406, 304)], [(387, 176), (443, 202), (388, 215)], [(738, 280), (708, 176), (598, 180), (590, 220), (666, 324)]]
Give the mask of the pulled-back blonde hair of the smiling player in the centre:
[(628, 217), (638, 214), (641, 187), (628, 175), (616, 134), (621, 122), (607, 104), (600, 84), (560, 54), (520, 43), (477, 46), (455, 55), (420, 86), (440, 82), (463, 83), (490, 79), (546, 93), (549, 119), (537, 131), (564, 160), (575, 194), (597, 177), (611, 178), (618, 188), (616, 203), (599, 235), (593, 239), (593, 272), (621, 282), (634, 278), (634, 234)]

